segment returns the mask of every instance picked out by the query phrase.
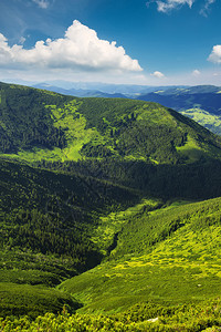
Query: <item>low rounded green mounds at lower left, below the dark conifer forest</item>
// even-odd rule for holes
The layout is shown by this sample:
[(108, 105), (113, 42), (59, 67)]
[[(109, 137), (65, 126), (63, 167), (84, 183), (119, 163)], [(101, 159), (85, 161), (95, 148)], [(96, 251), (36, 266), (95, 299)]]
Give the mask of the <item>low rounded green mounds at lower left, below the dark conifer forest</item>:
[(24, 252), (0, 251), (0, 315), (29, 315), (57, 313), (64, 304), (78, 308), (69, 294), (55, 287), (77, 272), (71, 259)]

